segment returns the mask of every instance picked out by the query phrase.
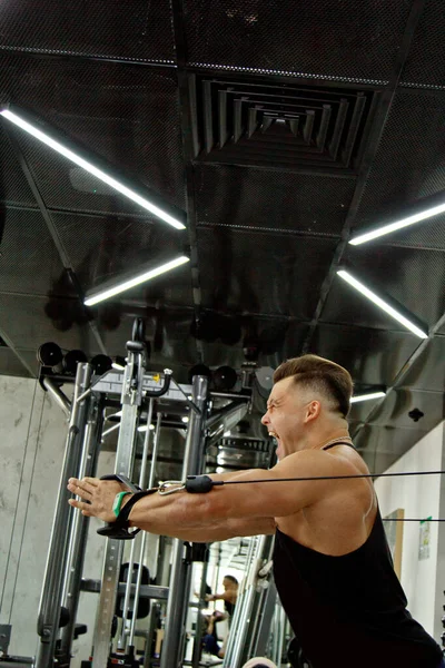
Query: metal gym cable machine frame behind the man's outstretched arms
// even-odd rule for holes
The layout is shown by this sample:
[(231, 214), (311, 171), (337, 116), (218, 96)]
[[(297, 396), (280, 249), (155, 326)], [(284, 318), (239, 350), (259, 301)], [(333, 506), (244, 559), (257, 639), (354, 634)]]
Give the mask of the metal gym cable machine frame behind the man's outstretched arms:
[[(87, 542), (88, 518), (76, 512), (68, 504), (70, 493), (66, 489), (70, 475), (82, 478), (93, 477), (100, 451), (103, 425), (103, 412), (107, 397), (120, 395), (122, 415), (120, 421), (118, 446), (116, 452), (115, 472), (131, 478), (135, 463), (136, 430), (142, 403), (149, 400), (148, 425), (154, 409), (154, 401), (162, 396), (164, 400), (187, 404), (190, 418), (186, 436), (186, 451), (184, 458), (182, 479), (188, 474), (199, 474), (205, 464), (205, 449), (207, 435), (212, 430), (215, 436), (222, 430), (237, 424), (246, 413), (250, 402), (248, 394), (225, 394), (233, 399), (233, 403), (218, 413), (211, 414), (212, 396), (218, 393), (208, 392), (208, 379), (195, 376), (192, 385), (178, 385), (171, 379), (171, 372), (165, 371), (164, 382), (158, 374), (145, 373), (144, 358), (144, 323), (137, 321), (134, 327), (134, 341), (127, 343), (127, 366), (123, 374), (110, 371), (103, 376), (92, 377), (89, 364), (80, 363), (75, 381), (75, 393), (70, 405), (60, 387), (50, 379), (43, 379), (42, 386), (50, 392), (57, 403), (66, 412), (70, 412), (66, 453), (60, 478), (59, 494), (50, 537), (47, 568), (43, 579), (42, 595), (38, 615), (38, 635), (40, 644), (36, 658), (36, 668), (50, 668), (57, 662), (59, 667), (69, 666), (71, 646), (76, 632), (75, 621), (79, 602), (79, 593), (85, 591), (99, 591), (100, 599), (97, 611), (92, 659), (93, 668), (105, 668), (110, 657), (111, 623), (115, 615), (117, 593), (125, 587), (125, 603), (122, 613), (122, 632), (118, 642), (118, 650), (131, 656), (135, 637), (136, 610), (138, 597), (167, 599), (167, 623), (164, 648), (161, 652), (161, 668), (176, 668), (181, 665), (185, 644), (185, 612), (189, 600), (192, 550), (189, 543), (181, 540), (174, 542), (174, 558), (171, 580), (168, 588), (141, 584), (141, 559), (136, 584), (132, 584), (132, 563), (136, 541), (132, 544), (127, 582), (119, 583), (120, 563), (123, 552), (122, 541), (107, 539), (103, 562), (102, 582), (82, 580), (83, 557)], [(221, 424), (218, 424), (221, 423)], [(215, 425), (217, 425), (215, 429)], [(147, 459), (149, 448), (149, 430), (145, 443), (140, 487), (151, 485), (155, 482), (155, 462), (159, 443), (161, 426), (161, 412), (158, 411), (158, 424), (155, 433), (155, 443), (151, 454), (151, 470), (147, 479)], [(139, 554), (145, 551), (146, 534), (138, 537)], [(135, 595), (135, 596), (134, 596)], [(128, 633), (126, 620), (128, 619), (129, 601), (134, 596), (134, 616)], [(59, 631), (61, 609), (66, 609), (68, 623)], [(59, 638), (60, 635), (60, 638)], [(128, 636), (128, 638), (126, 637)], [(196, 642), (200, 638), (196, 637)], [(150, 647), (146, 645), (146, 666), (149, 666), (147, 654)], [(197, 664), (198, 652), (194, 652), (194, 665)], [(1, 664), (0, 664), (1, 665)]]

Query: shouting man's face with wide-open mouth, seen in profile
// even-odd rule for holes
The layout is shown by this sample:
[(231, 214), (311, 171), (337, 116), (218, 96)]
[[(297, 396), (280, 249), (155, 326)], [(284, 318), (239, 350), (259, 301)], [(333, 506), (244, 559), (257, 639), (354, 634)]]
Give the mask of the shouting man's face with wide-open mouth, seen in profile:
[(307, 396), (298, 389), (291, 376), (274, 385), (261, 422), (277, 440), (279, 460), (296, 452), (295, 444), (303, 435), (306, 404)]

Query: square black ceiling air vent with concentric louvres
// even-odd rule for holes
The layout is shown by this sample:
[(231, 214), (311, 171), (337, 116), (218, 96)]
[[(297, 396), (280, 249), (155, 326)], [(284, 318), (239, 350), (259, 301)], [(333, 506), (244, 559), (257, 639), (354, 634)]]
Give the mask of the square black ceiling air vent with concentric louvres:
[(357, 168), (377, 95), (197, 75), (189, 86), (196, 160), (336, 173)]

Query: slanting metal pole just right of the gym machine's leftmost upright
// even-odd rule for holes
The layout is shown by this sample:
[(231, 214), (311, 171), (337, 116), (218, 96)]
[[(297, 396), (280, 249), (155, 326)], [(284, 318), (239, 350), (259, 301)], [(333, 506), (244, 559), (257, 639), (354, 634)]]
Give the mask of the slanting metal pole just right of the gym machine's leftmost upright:
[[(78, 478), (93, 477), (100, 451), (100, 433), (103, 424), (103, 402), (91, 394), (88, 409), (88, 421), (85, 430), (83, 451)], [(61, 631), (61, 654), (69, 658), (75, 632), (77, 608), (79, 605), (80, 583), (82, 579), (83, 559), (87, 546), (89, 518), (76, 512), (72, 519), (70, 547), (63, 582), (62, 601), (69, 612), (69, 621)]]

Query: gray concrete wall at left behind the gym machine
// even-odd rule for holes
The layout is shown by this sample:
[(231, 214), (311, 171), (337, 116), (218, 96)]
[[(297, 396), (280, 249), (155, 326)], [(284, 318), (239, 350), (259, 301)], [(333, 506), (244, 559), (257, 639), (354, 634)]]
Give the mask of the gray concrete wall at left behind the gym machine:
[[(37, 381), (0, 376), (0, 623), (12, 625), (11, 655), (34, 656), (37, 615), (63, 459), (67, 419)], [(103, 452), (98, 474), (113, 470)], [(100, 578), (105, 540), (92, 519), (85, 577)], [(81, 593), (78, 621), (89, 632), (73, 644), (76, 660), (91, 650), (97, 596)]]

